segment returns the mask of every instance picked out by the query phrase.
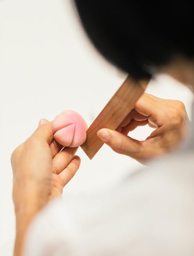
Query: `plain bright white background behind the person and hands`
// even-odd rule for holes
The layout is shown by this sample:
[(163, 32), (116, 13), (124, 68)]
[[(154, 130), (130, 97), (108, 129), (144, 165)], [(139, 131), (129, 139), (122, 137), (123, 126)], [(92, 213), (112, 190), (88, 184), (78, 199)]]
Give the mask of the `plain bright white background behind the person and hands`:
[[(12, 255), (15, 235), (11, 152), (39, 119), (75, 110), (87, 124), (126, 77), (105, 61), (85, 36), (70, 0), (0, 0), (0, 255)], [(166, 75), (147, 92), (181, 100), (191, 116), (191, 92)], [(149, 128), (131, 133), (144, 139)], [(103, 146), (92, 161), (78, 150), (81, 168), (64, 195), (107, 189), (142, 168)]]

